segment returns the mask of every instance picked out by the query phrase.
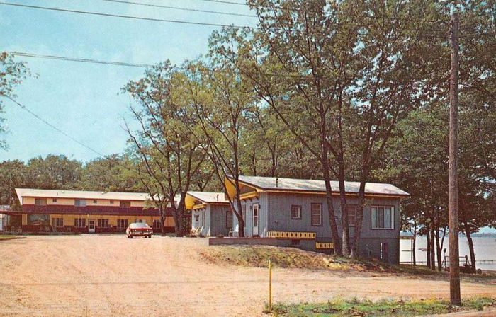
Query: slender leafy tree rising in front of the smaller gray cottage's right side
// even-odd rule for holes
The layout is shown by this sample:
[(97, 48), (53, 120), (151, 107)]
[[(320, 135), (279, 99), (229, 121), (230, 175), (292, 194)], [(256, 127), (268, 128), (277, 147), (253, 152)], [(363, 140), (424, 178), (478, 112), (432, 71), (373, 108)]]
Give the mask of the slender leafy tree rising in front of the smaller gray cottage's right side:
[[(201, 129), (191, 133), (204, 139), (204, 151), (210, 159), (219, 183), (227, 192), (227, 183), (235, 188), (235, 197), (227, 195), (232, 212), (237, 217), (238, 234), (244, 236), (244, 215), (239, 199), (242, 175), (242, 153), (247, 153), (249, 134), (247, 127), (254, 114), (254, 93), (247, 79), (229, 65), (210, 59), (204, 64), (189, 64), (186, 67), (184, 86), (188, 96), (185, 103), (195, 110), (193, 122)], [(191, 125), (190, 125), (191, 127)]]

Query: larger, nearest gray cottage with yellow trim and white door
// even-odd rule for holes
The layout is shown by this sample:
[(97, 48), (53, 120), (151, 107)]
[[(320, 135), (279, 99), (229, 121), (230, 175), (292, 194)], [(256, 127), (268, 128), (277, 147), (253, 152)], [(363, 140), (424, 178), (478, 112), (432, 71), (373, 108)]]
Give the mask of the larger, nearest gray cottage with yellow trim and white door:
[[(325, 183), (323, 180), (298, 180), (240, 176), (240, 200), (248, 237), (276, 238), (279, 246), (332, 252)], [(226, 179), (226, 195), (235, 198), (232, 179)], [(354, 234), (354, 217), (358, 204), (358, 182), (346, 182), (350, 236)], [(334, 213), (341, 235), (341, 209), (337, 181), (332, 181)], [(400, 258), (400, 201), (410, 195), (391, 184), (367, 183), (363, 214), (360, 255), (388, 263)], [(236, 204), (235, 204), (236, 206)], [(232, 217), (237, 234), (237, 217)], [(351, 241), (352, 243), (352, 241)]]

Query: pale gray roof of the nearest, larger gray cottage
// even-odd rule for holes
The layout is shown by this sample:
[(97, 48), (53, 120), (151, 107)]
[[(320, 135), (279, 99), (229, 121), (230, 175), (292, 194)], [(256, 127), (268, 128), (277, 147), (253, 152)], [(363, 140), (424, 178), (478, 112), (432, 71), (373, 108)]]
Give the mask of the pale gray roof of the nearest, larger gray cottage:
[[(261, 177), (261, 176), (239, 176), (239, 180), (247, 185), (253, 185), (261, 190), (295, 190), (295, 191), (311, 191), (325, 192), (324, 180), (298, 180), (295, 178), (276, 178), (276, 177)], [(359, 182), (345, 182), (344, 187), (346, 192), (358, 194)], [(331, 181), (332, 192), (339, 192), (337, 180)], [(394, 195), (394, 196), (410, 196), (404, 190), (400, 190), (395, 185), (387, 183), (366, 183), (365, 193), (368, 195)]]

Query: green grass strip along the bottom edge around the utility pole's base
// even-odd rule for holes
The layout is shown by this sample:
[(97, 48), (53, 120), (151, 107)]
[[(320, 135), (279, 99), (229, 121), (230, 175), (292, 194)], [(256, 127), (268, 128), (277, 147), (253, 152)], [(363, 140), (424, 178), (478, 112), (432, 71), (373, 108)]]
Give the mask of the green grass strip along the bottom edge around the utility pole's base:
[(419, 316), (425, 314), (451, 313), (454, 311), (478, 310), (482, 311), (485, 307), (495, 306), (496, 299), (489, 297), (476, 297), (463, 301), (461, 307), (454, 307), (449, 301), (441, 299), (426, 300), (343, 300), (334, 299), (327, 303), (318, 304), (276, 304), (269, 311), (266, 307), (265, 313), (271, 313), (271, 316), (281, 317), (324, 317), (324, 316), (361, 316), (361, 317), (380, 317), (380, 316)]

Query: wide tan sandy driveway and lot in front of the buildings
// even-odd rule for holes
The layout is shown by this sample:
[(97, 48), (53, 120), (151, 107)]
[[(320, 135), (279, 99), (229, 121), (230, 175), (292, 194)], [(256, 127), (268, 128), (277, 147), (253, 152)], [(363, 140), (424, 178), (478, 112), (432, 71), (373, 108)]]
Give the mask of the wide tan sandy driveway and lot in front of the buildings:
[[(262, 316), (267, 269), (209, 265), (203, 238), (29, 236), (0, 241), (0, 316)], [(445, 281), (276, 269), (274, 302), (448, 296)], [(496, 281), (462, 295), (496, 295)]]

